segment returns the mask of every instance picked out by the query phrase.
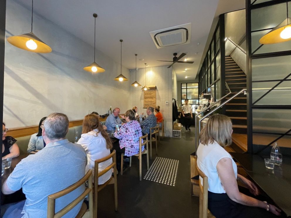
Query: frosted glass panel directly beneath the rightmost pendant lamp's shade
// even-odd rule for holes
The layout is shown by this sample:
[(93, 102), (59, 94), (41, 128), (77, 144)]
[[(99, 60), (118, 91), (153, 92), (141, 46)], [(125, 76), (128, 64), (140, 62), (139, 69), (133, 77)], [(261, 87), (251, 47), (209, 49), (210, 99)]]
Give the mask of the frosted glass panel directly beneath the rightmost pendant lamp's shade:
[[(260, 38), (268, 33), (270, 30), (264, 30), (260, 32), (252, 33), (252, 53), (261, 45)], [(281, 42), (276, 44), (263, 45), (254, 54), (270, 53), (270, 52), (281, 52), (291, 50), (291, 41)]]

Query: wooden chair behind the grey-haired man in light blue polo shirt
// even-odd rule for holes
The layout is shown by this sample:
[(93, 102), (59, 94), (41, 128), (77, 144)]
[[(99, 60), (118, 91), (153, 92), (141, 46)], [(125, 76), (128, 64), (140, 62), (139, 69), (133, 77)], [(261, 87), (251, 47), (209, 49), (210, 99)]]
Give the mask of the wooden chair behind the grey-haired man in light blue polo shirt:
[[(67, 195), (68, 193), (74, 191), (75, 189), (79, 188), (81, 185), (85, 184), (85, 181), (88, 180), (88, 188), (84, 190), (84, 192), (77, 197), (76, 199), (72, 199), (73, 201), (65, 206), (62, 210), (59, 212), (55, 213), (55, 200), (59, 197), (62, 197), (64, 195)], [(49, 195), (48, 196), (48, 212), (47, 212), (47, 217), (48, 218), (58, 218), (62, 217), (65, 215), (67, 212), (72, 210), (73, 207), (75, 207), (79, 202), (83, 201), (86, 195), (89, 194), (89, 217), (93, 218), (94, 211), (93, 211), (93, 184), (92, 184), (92, 170), (89, 170), (86, 175), (74, 183), (73, 185), (70, 185), (68, 188), (65, 188), (55, 194)], [(87, 211), (87, 205), (83, 202), (82, 207), (77, 214), (76, 218), (83, 217), (85, 212)]]

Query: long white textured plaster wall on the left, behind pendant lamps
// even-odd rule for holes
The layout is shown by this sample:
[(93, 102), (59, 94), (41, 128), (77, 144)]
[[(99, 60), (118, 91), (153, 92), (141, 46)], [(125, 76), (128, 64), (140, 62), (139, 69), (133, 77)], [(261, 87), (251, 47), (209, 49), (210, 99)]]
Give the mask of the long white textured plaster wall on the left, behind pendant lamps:
[[(30, 8), (7, 0), (6, 38), (30, 32), (30, 22)], [(96, 50), (96, 62), (106, 71), (92, 75), (83, 70), (94, 60), (92, 46), (37, 14), (33, 32), (53, 52), (28, 52), (6, 41), (3, 113), (8, 128), (38, 125), (40, 118), (52, 112), (78, 120), (88, 110), (105, 114), (110, 106), (119, 107), (121, 113), (129, 108), (129, 81), (113, 80), (120, 74), (120, 63)], [(91, 32), (94, 34), (94, 29)], [(128, 69), (123, 67), (122, 73), (129, 77)]]

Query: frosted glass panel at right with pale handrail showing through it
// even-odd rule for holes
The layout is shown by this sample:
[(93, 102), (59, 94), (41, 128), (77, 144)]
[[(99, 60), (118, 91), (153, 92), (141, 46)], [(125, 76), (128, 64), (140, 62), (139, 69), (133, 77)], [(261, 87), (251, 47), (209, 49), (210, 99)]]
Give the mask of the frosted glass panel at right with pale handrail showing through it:
[[(252, 83), (253, 102), (268, 92), (275, 84), (278, 84), (278, 81)], [(291, 81), (282, 82), (255, 105), (291, 105)]]

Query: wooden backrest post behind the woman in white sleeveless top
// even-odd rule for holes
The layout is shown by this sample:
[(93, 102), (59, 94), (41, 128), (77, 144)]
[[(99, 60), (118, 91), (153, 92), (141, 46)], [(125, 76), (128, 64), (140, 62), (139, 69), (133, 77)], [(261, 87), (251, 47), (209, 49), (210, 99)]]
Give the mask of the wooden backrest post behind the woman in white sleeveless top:
[(208, 211), (208, 177), (198, 168), (197, 157), (195, 158), (195, 165), (199, 176), (202, 178), (203, 186), (199, 181), (200, 195), (199, 195), (199, 218), (207, 218)]

